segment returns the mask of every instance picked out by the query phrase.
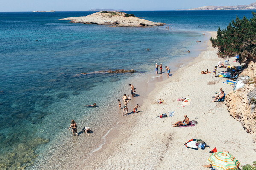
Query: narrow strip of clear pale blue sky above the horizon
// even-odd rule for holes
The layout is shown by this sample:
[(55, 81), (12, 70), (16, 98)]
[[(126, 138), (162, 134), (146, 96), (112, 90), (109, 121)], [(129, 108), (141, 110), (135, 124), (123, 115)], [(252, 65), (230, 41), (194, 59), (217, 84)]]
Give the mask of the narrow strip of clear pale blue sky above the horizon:
[(0, 0), (0, 12), (87, 11), (95, 8), (131, 11), (190, 9), (201, 6), (249, 5), (256, 0)]

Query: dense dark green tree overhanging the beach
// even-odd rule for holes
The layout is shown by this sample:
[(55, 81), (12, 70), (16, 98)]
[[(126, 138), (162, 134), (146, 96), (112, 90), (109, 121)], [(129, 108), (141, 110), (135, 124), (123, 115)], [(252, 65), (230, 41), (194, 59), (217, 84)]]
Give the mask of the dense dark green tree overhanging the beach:
[(217, 38), (210, 38), (212, 46), (218, 48), (219, 57), (233, 57), (239, 54), (239, 62), (249, 64), (251, 60), (256, 61), (256, 13), (247, 19), (232, 20), (227, 29), (218, 28)]

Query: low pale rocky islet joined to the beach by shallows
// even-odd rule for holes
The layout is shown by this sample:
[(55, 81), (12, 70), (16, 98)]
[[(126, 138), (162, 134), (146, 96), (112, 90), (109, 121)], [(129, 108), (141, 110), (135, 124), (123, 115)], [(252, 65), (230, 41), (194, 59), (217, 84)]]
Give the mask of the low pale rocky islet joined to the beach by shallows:
[(162, 26), (165, 23), (155, 23), (135, 17), (134, 14), (126, 14), (116, 11), (101, 11), (83, 17), (70, 17), (59, 20), (71, 20), (71, 23), (99, 24), (114, 26)]

